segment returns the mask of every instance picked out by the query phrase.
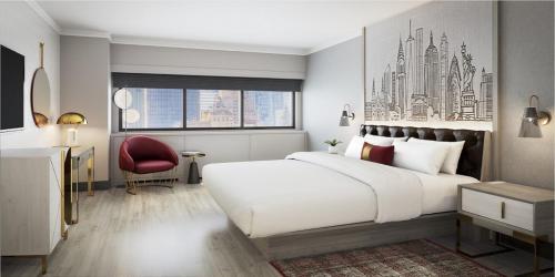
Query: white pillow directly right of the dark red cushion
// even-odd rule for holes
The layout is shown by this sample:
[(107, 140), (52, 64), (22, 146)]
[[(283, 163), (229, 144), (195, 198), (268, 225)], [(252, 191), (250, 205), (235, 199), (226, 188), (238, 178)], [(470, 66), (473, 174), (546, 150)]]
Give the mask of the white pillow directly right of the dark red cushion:
[(394, 142), (393, 166), (437, 175), (447, 156), (445, 144)]

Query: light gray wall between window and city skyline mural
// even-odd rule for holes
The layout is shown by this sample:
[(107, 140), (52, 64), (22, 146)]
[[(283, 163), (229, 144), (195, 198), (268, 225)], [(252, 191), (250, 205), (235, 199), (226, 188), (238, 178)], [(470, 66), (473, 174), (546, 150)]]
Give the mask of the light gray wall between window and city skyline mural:
[[(309, 133), (309, 147), (324, 150), (325, 140), (343, 141), (345, 148), (364, 122), (362, 37), (313, 53), (307, 60), (303, 88), (303, 127)], [(355, 121), (340, 127), (344, 104), (354, 109)]]

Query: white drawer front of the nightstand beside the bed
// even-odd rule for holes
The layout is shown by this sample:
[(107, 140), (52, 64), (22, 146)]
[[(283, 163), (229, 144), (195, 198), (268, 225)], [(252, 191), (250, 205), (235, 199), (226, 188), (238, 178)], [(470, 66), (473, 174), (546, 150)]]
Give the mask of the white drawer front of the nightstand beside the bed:
[(461, 208), (467, 213), (534, 230), (534, 205), (531, 203), (463, 188)]

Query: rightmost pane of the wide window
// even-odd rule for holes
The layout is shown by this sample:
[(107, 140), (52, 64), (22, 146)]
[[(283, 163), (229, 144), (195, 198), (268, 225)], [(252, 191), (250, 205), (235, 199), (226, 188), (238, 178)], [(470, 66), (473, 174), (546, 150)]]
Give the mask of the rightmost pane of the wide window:
[(293, 92), (245, 91), (245, 127), (291, 127), (293, 126)]

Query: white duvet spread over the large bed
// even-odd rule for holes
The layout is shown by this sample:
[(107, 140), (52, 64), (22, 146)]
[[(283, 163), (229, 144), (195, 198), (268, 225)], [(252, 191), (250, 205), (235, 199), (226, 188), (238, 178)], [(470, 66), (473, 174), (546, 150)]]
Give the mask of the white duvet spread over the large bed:
[(250, 237), (453, 211), (456, 184), (476, 181), (320, 152), (210, 164), (202, 176), (218, 204)]

